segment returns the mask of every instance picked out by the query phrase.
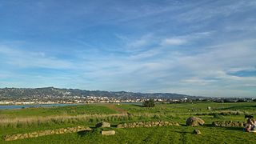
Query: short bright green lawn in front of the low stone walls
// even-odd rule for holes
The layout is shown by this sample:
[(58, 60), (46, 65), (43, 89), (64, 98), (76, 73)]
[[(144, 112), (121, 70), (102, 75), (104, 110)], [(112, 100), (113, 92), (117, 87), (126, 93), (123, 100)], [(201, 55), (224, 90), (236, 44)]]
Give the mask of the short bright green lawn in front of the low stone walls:
[(238, 129), (198, 126), (201, 135), (192, 134), (191, 126), (114, 129), (113, 136), (102, 136), (100, 130), (74, 134), (50, 135), (5, 143), (255, 143), (256, 134)]

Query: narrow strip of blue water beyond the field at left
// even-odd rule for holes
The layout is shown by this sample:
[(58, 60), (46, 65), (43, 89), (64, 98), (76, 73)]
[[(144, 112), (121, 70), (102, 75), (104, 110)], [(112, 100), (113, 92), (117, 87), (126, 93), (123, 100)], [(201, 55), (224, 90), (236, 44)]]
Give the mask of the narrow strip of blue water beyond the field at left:
[(53, 106), (75, 106), (78, 104), (38, 104), (38, 105), (0, 105), (0, 110), (5, 109), (24, 109), (30, 107), (53, 107)]

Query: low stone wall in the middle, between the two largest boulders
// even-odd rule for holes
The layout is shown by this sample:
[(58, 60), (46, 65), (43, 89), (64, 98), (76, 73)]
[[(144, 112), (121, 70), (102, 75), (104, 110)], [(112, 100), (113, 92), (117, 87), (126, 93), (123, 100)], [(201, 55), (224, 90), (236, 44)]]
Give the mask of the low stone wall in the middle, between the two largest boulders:
[(131, 122), (118, 124), (117, 128), (151, 127), (151, 126), (179, 126), (178, 122)]

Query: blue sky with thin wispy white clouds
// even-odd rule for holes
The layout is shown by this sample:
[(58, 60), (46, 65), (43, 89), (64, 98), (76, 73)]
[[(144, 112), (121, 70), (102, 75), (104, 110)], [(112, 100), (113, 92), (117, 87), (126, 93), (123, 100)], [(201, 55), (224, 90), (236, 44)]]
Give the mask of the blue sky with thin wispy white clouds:
[(0, 0), (0, 87), (256, 97), (255, 0)]

